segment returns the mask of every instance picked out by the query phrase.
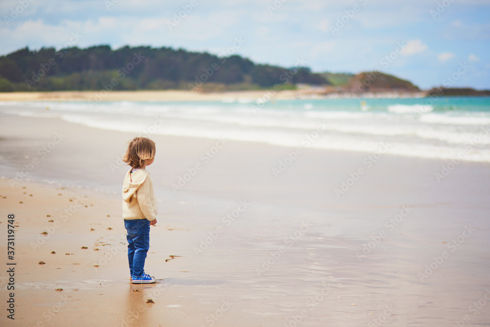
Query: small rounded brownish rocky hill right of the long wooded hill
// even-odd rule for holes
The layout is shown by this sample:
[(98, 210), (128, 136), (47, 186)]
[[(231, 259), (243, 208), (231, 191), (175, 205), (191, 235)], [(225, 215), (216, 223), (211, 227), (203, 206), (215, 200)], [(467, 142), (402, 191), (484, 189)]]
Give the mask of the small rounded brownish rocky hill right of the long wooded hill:
[(352, 77), (346, 89), (351, 92), (420, 92), (412, 82), (380, 72), (363, 72)]

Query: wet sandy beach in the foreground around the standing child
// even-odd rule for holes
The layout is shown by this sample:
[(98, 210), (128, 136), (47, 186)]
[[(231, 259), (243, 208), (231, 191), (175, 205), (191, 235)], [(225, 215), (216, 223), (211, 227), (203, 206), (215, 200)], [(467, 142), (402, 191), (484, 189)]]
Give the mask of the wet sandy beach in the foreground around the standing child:
[(193, 170), (219, 140), (153, 135), (158, 280), (140, 286), (119, 194), (134, 133), (0, 124), (1, 326), (489, 326), (488, 163), (438, 181), (443, 160), (385, 154), (359, 174), (372, 153), (303, 149), (283, 170), (294, 148), (230, 140)]

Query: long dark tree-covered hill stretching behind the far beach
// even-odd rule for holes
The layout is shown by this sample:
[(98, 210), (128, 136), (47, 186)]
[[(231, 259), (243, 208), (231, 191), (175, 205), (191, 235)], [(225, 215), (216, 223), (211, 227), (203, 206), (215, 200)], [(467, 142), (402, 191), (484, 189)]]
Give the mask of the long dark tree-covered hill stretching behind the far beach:
[(56, 51), (20, 49), (0, 56), (0, 91), (246, 90), (295, 84), (329, 85), (300, 64), (256, 64), (239, 55), (217, 56), (183, 49), (107, 45)]

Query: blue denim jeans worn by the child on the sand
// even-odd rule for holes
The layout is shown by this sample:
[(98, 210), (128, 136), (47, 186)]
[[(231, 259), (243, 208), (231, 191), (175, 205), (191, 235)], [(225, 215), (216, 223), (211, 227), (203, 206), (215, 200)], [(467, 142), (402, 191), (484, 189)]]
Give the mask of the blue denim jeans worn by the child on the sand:
[(125, 220), (127, 230), (127, 259), (131, 277), (140, 277), (145, 272), (145, 259), (150, 247), (150, 222), (147, 219)]

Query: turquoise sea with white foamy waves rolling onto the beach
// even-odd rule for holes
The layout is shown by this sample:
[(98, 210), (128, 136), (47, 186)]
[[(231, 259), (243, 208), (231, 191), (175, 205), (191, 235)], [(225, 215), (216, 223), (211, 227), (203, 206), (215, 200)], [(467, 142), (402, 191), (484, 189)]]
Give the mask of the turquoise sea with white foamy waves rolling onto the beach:
[(490, 98), (0, 102), (109, 130), (490, 162)]

